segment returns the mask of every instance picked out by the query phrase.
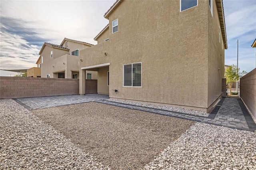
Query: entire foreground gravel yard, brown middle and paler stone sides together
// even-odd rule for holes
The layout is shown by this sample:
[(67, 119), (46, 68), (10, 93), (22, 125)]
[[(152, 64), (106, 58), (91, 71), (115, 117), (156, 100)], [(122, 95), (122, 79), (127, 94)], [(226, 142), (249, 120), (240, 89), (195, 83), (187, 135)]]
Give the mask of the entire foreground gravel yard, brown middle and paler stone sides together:
[(256, 169), (256, 132), (101, 103), (32, 112), (47, 124), (0, 100), (1, 170)]

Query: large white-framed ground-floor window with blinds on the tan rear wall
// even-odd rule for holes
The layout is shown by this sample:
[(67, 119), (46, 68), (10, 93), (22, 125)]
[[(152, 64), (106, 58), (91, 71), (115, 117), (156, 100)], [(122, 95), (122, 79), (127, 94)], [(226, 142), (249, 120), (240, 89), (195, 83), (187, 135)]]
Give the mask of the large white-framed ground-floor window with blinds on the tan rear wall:
[(141, 87), (142, 63), (124, 64), (123, 75), (124, 87)]

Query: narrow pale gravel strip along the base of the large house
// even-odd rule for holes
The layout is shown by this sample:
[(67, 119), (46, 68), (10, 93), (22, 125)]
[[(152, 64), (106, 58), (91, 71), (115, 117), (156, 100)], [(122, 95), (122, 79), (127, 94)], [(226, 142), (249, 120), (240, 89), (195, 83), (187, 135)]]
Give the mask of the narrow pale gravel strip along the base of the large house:
[(129, 105), (150, 107), (150, 108), (155, 108), (155, 109), (163, 109), (166, 111), (175, 111), (175, 112), (186, 113), (186, 114), (202, 116), (202, 117), (209, 116), (209, 113), (206, 113), (206, 112), (195, 111), (195, 110), (191, 110), (191, 109), (184, 109), (184, 108), (179, 108), (179, 107), (170, 107), (170, 106), (165, 106), (165, 105), (153, 105), (153, 104), (149, 104), (149, 103), (141, 103), (141, 102), (134, 102), (134, 101), (128, 101), (128, 100), (121, 100), (121, 99), (105, 99), (105, 100), (106, 101), (114, 101), (117, 103), (129, 104)]

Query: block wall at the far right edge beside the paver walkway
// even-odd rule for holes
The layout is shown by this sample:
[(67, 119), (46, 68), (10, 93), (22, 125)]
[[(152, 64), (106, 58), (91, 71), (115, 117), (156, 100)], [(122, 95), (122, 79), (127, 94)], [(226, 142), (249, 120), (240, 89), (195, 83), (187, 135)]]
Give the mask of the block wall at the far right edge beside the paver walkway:
[(256, 69), (240, 79), (240, 98), (256, 118)]

